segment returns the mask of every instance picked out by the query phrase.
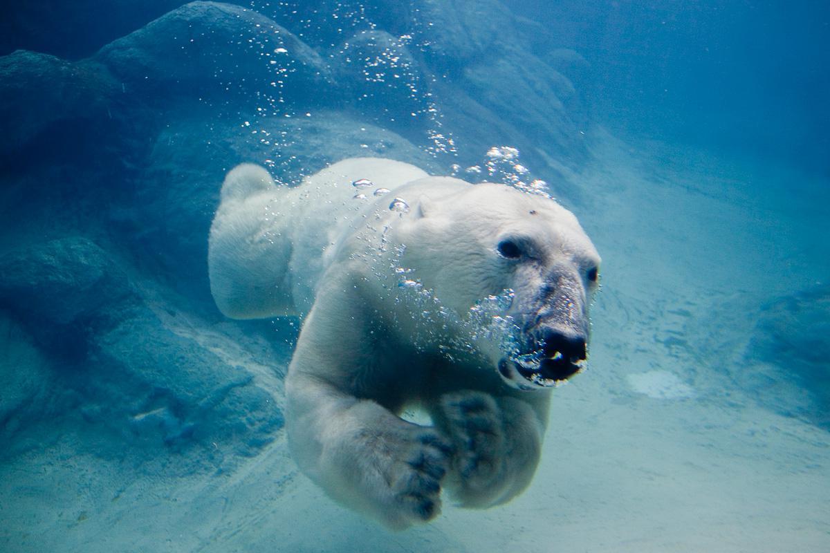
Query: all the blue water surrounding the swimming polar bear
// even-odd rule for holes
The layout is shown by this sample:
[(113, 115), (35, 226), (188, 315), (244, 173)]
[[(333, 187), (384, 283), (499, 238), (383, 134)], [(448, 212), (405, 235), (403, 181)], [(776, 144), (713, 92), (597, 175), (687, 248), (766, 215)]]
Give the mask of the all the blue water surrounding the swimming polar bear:
[[(585, 3), (6, 6), (0, 551), (830, 551), (830, 8)], [(340, 507), (301, 322), (213, 303), (224, 174), (355, 156), (544, 181), (603, 256), (508, 505)]]

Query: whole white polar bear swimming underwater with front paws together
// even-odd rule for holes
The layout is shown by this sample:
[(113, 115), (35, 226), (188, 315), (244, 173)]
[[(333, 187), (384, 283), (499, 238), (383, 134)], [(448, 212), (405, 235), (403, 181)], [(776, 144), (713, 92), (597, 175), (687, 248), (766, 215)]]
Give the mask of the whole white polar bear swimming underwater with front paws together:
[(208, 262), (227, 316), (304, 319), (286, 377), (302, 471), (401, 529), (442, 488), (484, 508), (528, 486), (550, 389), (587, 357), (600, 259), (546, 196), (352, 158), (299, 187), (233, 169)]

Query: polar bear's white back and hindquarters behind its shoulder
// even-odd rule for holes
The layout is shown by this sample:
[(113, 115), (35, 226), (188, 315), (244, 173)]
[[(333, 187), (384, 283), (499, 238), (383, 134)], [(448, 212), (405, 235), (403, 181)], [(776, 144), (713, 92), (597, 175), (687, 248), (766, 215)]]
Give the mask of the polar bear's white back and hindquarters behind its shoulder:
[[(427, 173), (408, 163), (349, 158), (305, 177), (298, 187), (278, 186), (259, 166), (227, 174), (208, 241), (208, 273), (217, 307), (231, 318), (307, 313), (326, 250), (354, 226), (372, 196)], [(353, 182), (370, 185), (358, 190)]]

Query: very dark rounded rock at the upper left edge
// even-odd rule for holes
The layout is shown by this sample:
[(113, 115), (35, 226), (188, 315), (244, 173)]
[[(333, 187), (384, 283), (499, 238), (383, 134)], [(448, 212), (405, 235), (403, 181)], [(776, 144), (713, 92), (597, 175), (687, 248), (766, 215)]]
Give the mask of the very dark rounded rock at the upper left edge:
[(0, 57), (0, 156), (21, 148), (56, 121), (105, 117), (116, 83), (100, 65), (15, 51)]

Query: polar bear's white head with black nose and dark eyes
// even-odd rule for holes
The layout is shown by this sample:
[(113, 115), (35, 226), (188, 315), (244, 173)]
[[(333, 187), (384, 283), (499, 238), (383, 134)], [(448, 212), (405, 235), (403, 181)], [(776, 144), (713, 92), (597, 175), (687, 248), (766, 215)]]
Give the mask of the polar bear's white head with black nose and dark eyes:
[(476, 347), (511, 386), (530, 390), (573, 376), (587, 358), (600, 263), (579, 221), (547, 197), (505, 185), (442, 185), (426, 187), (399, 226), (412, 277), (459, 314), (509, 291), (509, 336), (488, 335)]

